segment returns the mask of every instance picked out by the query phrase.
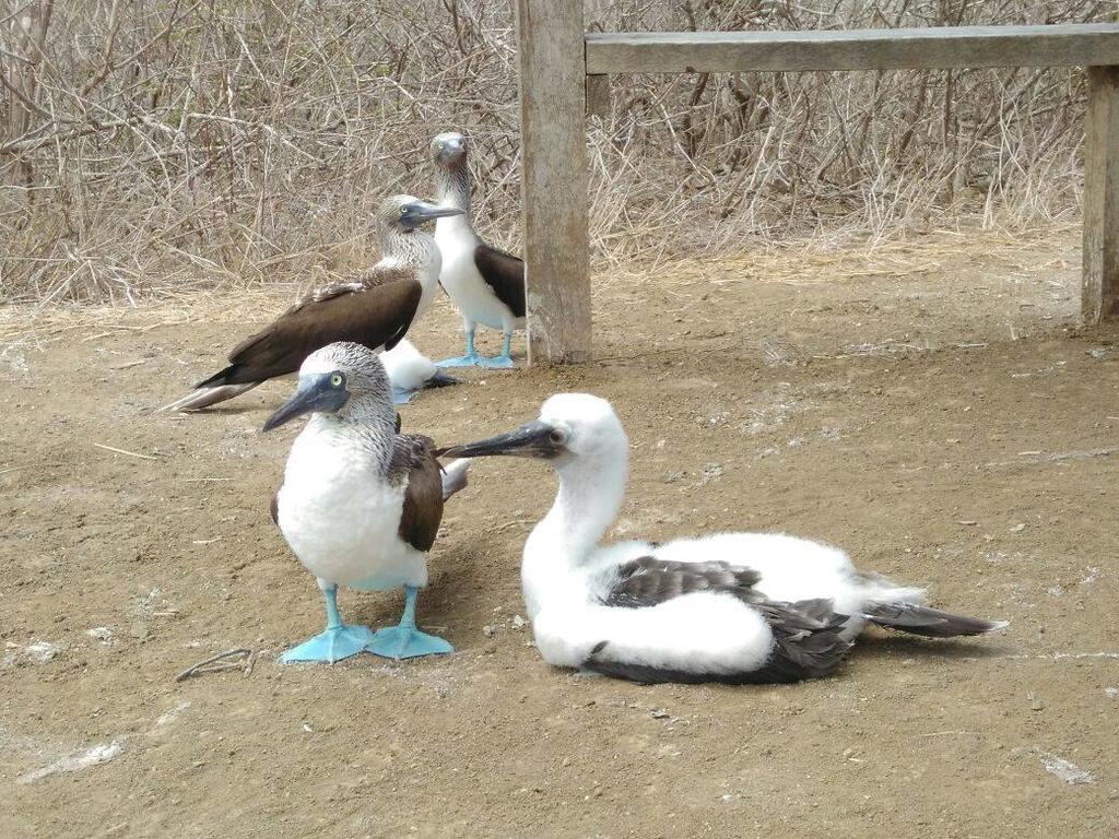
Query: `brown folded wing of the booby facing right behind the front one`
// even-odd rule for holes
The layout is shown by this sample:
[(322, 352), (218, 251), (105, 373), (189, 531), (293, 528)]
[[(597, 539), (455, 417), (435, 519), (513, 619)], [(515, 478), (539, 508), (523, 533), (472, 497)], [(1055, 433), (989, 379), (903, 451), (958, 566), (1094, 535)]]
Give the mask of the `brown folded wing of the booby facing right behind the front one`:
[(335, 341), (392, 349), (412, 324), (423, 289), (414, 275), (309, 295), (229, 353), (229, 367), (199, 386), (264, 381), (295, 373), (309, 355)]

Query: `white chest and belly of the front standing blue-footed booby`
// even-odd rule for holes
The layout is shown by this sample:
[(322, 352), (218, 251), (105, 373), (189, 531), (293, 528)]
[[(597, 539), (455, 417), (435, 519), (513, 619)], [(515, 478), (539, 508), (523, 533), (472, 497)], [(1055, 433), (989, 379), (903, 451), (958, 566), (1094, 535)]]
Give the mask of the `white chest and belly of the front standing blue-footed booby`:
[(276, 499), (280, 529), (316, 577), (352, 588), (422, 586), (426, 555), (399, 538), (404, 488), (368, 452), (308, 427), (288, 459)]

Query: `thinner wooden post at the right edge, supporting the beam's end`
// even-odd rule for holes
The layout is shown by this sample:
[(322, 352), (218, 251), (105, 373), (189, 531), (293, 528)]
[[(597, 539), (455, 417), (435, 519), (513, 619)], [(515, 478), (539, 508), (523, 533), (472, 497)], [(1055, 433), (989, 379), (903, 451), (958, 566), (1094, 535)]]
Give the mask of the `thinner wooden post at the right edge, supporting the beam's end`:
[(1083, 272), (1084, 322), (1119, 320), (1119, 66), (1088, 68)]

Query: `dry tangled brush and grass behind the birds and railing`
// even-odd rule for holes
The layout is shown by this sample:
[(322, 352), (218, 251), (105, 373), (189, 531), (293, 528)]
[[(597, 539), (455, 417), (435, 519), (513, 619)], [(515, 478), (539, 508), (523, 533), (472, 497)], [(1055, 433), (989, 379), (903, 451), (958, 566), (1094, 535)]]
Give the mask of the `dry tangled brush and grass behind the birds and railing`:
[[(590, 0), (590, 28), (1101, 19), (1102, 0)], [(517, 246), (509, 8), (483, 0), (4, 0), (0, 293), (135, 302), (299, 285), (375, 253), (369, 208), (430, 192), (426, 145), (473, 142), (476, 213)], [(1065, 224), (1078, 70), (632, 77), (593, 117), (600, 267), (943, 226)]]

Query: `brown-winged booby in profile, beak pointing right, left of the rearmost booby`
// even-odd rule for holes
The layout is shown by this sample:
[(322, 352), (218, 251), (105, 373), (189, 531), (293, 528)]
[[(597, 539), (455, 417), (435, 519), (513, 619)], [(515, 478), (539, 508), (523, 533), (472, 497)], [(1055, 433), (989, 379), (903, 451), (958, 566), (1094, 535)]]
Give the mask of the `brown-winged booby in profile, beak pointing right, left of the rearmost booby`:
[(267, 379), (299, 369), (311, 352), (333, 341), (392, 349), (431, 308), (441, 261), (431, 234), (417, 229), (459, 215), (406, 195), (384, 200), (377, 229), (384, 256), (352, 281), (317, 289), (229, 352), (229, 366), (161, 411), (198, 411), (232, 399)]

